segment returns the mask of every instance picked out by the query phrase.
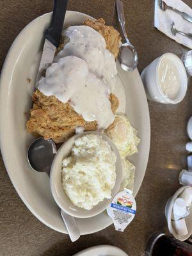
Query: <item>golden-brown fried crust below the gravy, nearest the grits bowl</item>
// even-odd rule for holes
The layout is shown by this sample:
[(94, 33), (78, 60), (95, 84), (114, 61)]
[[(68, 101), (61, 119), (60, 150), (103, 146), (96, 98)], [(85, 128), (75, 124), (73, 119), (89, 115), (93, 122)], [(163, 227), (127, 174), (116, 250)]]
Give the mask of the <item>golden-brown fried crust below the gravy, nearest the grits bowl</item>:
[[(111, 94), (111, 109), (118, 108), (118, 99)], [(33, 93), (33, 109), (27, 123), (27, 131), (40, 134), (46, 140), (52, 138), (56, 143), (65, 141), (75, 133), (76, 127), (85, 131), (97, 129), (97, 122), (86, 122), (68, 103), (62, 103), (56, 97), (47, 97), (39, 90)]]

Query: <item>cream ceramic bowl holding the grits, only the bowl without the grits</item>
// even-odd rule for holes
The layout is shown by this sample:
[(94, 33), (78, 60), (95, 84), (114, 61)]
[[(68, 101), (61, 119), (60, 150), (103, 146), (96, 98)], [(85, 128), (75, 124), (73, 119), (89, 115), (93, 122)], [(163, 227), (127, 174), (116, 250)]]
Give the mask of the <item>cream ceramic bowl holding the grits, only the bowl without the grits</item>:
[[(111, 199), (104, 199), (102, 202), (95, 205), (93, 209), (85, 210), (74, 205), (66, 195), (65, 191), (63, 190), (62, 180), (61, 180), (61, 163), (63, 159), (65, 159), (70, 155), (71, 148), (74, 145), (77, 138), (90, 133), (102, 136), (103, 140), (107, 141), (111, 149), (113, 150), (113, 152), (115, 152), (116, 181), (115, 181), (115, 186), (111, 191)], [(122, 182), (122, 163), (121, 163), (121, 158), (120, 158), (118, 149), (116, 148), (113, 141), (111, 141), (108, 138), (108, 136), (100, 132), (90, 131), (90, 132), (83, 132), (82, 134), (76, 134), (72, 136), (65, 143), (63, 143), (63, 145), (61, 146), (60, 150), (58, 151), (58, 153), (56, 154), (52, 162), (51, 174), (50, 174), (52, 196), (54, 197), (54, 200), (63, 211), (77, 218), (90, 218), (104, 211), (108, 207), (109, 203), (111, 202), (113, 197), (116, 195), (116, 193), (118, 193), (121, 182)]]

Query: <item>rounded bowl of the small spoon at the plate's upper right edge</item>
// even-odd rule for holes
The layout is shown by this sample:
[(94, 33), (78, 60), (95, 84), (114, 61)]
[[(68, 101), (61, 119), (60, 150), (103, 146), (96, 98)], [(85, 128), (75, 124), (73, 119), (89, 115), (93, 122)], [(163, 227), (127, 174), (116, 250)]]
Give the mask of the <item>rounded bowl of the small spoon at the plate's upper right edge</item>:
[(138, 65), (138, 53), (132, 44), (122, 44), (118, 55), (118, 61), (125, 71), (133, 71)]

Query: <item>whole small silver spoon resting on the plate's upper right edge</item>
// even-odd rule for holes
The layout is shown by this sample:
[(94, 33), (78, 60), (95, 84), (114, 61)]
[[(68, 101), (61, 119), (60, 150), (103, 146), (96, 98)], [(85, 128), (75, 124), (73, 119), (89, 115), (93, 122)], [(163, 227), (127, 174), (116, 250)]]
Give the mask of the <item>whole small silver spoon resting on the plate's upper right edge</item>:
[(138, 53), (134, 46), (129, 42), (127, 33), (125, 30), (125, 15), (124, 15), (124, 4), (120, 0), (116, 0), (116, 8), (118, 13), (118, 20), (124, 33), (125, 43), (121, 45), (120, 52), (118, 54), (118, 61), (121, 67), (125, 71), (133, 71), (138, 65)]

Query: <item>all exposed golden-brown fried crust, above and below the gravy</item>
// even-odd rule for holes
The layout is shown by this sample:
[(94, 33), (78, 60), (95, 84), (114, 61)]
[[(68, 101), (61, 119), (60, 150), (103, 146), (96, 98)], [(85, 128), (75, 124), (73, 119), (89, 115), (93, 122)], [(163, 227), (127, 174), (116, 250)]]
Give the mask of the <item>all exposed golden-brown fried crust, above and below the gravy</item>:
[[(118, 31), (105, 25), (103, 19), (86, 20), (84, 25), (98, 31), (106, 40), (106, 47), (115, 57), (118, 56), (118, 46), (121, 40)], [(57, 51), (61, 51), (63, 44)], [(118, 99), (115, 95), (109, 96), (111, 109), (115, 113), (118, 108)], [(33, 93), (33, 108), (26, 124), (27, 131), (35, 136), (43, 136), (46, 140), (52, 139), (56, 143), (65, 141), (75, 133), (76, 127), (84, 127), (85, 131), (97, 130), (97, 122), (86, 122), (81, 115), (68, 103), (62, 103), (56, 97), (47, 97), (39, 90)]]

